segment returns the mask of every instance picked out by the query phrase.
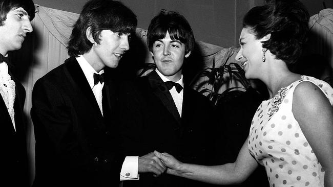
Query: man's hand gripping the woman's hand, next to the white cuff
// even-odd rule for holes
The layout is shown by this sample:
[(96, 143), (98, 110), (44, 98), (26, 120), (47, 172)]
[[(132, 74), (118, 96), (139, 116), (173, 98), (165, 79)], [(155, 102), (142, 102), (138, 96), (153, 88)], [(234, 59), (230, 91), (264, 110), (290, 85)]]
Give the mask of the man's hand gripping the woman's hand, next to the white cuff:
[(154, 173), (154, 177), (160, 176), (166, 167), (164, 163), (154, 155), (149, 153), (139, 157), (138, 172), (139, 173)]

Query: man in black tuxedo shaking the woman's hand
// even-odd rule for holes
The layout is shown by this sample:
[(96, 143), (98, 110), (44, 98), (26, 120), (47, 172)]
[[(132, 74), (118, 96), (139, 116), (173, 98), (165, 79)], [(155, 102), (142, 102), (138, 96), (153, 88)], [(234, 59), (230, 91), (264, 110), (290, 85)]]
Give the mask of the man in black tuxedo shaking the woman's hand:
[(70, 58), (32, 92), (33, 186), (119, 185), (125, 156), (118, 149), (113, 68), (129, 50), (136, 25), (134, 13), (120, 2), (90, 0), (83, 7), (70, 37)]

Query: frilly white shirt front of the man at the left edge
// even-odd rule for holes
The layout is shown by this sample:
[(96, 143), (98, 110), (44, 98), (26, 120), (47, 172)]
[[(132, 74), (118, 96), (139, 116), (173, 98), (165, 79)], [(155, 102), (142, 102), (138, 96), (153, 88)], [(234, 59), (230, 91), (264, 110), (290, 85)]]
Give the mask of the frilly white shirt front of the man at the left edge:
[(8, 65), (6, 62), (0, 63), (0, 93), (6, 104), (14, 130), (16, 131), (14, 119), (15, 82), (11, 80), (11, 77), (8, 74)]

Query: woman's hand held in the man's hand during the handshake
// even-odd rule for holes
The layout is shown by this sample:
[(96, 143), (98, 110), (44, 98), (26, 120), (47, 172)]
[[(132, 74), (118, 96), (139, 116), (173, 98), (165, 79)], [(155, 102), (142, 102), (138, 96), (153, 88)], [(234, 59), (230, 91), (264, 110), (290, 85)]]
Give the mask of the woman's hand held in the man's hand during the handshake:
[(158, 151), (154, 151), (154, 154), (162, 160), (166, 167), (168, 167), (166, 173), (172, 175), (176, 174), (176, 171), (181, 166), (182, 162), (178, 161), (174, 156), (169, 153), (160, 153)]

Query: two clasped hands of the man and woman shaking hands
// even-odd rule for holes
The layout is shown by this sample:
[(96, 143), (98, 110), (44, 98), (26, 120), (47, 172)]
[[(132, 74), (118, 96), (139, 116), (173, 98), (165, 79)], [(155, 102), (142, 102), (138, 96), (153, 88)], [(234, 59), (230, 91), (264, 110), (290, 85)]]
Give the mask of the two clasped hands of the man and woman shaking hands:
[(168, 153), (154, 151), (139, 157), (138, 172), (153, 173), (154, 177), (160, 176), (166, 171), (168, 174), (175, 174), (176, 169), (181, 166), (181, 162)]

